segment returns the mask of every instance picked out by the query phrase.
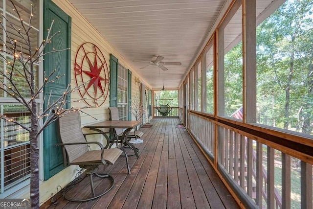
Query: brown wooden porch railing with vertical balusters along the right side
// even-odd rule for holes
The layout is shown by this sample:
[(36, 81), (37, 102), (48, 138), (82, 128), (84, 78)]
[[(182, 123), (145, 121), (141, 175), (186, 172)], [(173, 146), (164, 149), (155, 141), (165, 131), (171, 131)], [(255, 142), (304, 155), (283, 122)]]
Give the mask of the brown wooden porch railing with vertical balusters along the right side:
[(188, 117), (188, 131), (245, 207), (312, 208), (312, 158), (310, 163), (302, 158), (312, 154), (310, 139), (289, 140), (294, 135), (253, 130), (196, 111), (189, 111)]

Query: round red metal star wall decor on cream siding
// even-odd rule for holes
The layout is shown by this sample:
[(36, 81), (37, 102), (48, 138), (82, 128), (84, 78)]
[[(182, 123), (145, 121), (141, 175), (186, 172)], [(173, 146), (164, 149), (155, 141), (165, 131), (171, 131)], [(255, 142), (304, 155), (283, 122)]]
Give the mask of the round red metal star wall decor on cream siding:
[(74, 70), (76, 85), (85, 102), (92, 107), (101, 106), (109, 93), (109, 70), (101, 50), (92, 43), (80, 46)]

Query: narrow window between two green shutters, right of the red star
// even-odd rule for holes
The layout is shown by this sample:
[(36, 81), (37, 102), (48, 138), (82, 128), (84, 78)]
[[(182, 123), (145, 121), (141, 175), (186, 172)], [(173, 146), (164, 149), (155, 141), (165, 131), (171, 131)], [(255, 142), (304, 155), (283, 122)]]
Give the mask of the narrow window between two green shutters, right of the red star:
[(128, 70), (121, 64), (118, 64), (117, 69), (117, 108), (118, 116), (120, 120), (128, 119)]

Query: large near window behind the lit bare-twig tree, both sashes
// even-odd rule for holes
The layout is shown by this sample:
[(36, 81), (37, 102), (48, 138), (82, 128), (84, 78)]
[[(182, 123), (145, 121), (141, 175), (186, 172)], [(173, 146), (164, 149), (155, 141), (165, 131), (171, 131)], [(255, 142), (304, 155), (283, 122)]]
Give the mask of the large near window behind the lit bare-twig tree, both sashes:
[[(6, 10), (2, 9), (2, 5), (5, 4)], [(16, 4), (19, 10), (23, 23), (28, 26), (27, 21), (30, 17), (30, 8), (33, 4), (33, 18), (32, 18), (32, 33), (30, 35), (30, 41), (33, 43), (33, 51), (38, 47), (39, 43), (39, 1), (38, 0), (25, 0)], [(16, 14), (13, 14), (13, 5), (10, 1), (0, 0), (0, 9), (3, 15), (13, 24), (15, 27), (20, 27), (19, 18)], [(5, 19), (1, 20), (3, 23), (6, 22)], [(4, 28), (10, 37), (16, 37), (18, 42), (17, 51), (23, 50), (24, 46), (23, 39), (19, 38), (17, 32), (14, 30), (11, 24), (5, 24)], [(11, 46), (9, 39), (6, 37), (4, 29), (1, 28), (0, 36), (1, 39), (6, 42), (7, 46)], [(22, 30), (21, 30), (22, 31)], [(1, 49), (6, 51), (9, 50), (6, 46), (1, 44)], [(26, 50), (23, 50), (24, 53)], [(3, 53), (1, 51), (0, 59), (0, 70), (5, 72), (8, 70), (6, 62), (12, 61), (12, 56), (9, 53)], [(15, 67), (17, 69), (22, 68), (17, 62)], [(36, 69), (38, 72), (38, 69)], [(38, 74), (35, 77), (35, 82), (38, 86)], [(6, 80), (0, 77), (1, 82), (5, 83)], [(25, 79), (22, 78), (18, 73), (15, 74), (13, 78), (18, 83), (18, 88), (25, 98), (30, 98), (30, 94), (27, 91), (28, 85)], [(14, 118), (18, 122), (22, 123), (26, 127), (30, 127), (30, 114), (28, 110), (17, 103), (15, 99), (10, 97), (7, 93), (0, 91), (0, 114), (6, 115)], [(0, 198), (6, 197), (10, 193), (15, 192), (20, 189), (25, 180), (30, 177), (30, 144), (29, 144), (29, 134), (27, 131), (22, 129), (19, 125), (16, 125), (10, 121), (0, 120)], [(10, 189), (10, 190), (9, 190)], [(10, 192), (10, 193), (8, 193)]]

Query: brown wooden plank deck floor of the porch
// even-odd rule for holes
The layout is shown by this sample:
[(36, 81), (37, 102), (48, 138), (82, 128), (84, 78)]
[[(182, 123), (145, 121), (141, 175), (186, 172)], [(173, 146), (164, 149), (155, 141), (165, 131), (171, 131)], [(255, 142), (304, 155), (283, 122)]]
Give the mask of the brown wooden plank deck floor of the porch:
[[(141, 150), (140, 157), (129, 159), (132, 174), (127, 172), (125, 157), (119, 157), (105, 169), (115, 178), (115, 184), (101, 198), (77, 203), (65, 200), (59, 193), (52, 200), (54, 205), (50, 205), (50, 199), (41, 208), (238, 208), (188, 132), (177, 127), (178, 122), (177, 118), (159, 118), (150, 121), (151, 128), (142, 128), (144, 142), (136, 145)], [(96, 190), (107, 185), (105, 180), (94, 180)], [(72, 190), (73, 195), (79, 196), (89, 192), (88, 180)]]

